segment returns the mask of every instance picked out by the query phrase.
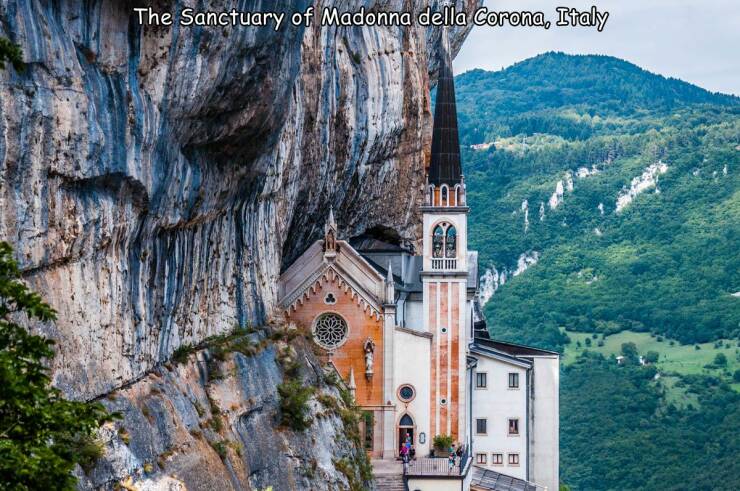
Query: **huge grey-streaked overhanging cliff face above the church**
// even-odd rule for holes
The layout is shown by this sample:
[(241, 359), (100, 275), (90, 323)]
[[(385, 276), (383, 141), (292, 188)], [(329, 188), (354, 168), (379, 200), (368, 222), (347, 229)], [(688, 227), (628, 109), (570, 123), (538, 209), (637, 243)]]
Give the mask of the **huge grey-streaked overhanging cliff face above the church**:
[(383, 225), (413, 243), (418, 232), (438, 31), (142, 28), (134, 4), (0, 5), (28, 62), (0, 72), (0, 238), (58, 311), (46, 327), (55, 383), (75, 398), (269, 318), (281, 267), (329, 206), (344, 236)]

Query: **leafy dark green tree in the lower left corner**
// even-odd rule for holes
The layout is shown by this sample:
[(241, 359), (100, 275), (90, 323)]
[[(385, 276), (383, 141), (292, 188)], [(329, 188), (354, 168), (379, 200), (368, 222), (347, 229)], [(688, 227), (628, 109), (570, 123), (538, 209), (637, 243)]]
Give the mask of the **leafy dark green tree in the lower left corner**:
[(12, 248), (0, 242), (0, 489), (75, 489), (72, 469), (99, 455), (95, 431), (114, 415), (51, 386), (54, 342), (29, 333), (21, 318), (56, 314), (20, 281)]

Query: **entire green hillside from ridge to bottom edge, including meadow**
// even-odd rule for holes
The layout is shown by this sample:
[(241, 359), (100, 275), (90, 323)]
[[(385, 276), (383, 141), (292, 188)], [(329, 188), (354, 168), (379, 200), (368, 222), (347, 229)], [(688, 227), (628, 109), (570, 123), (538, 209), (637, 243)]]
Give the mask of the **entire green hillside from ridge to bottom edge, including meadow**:
[(568, 355), (563, 481), (740, 488), (740, 99), (559, 53), (456, 91), (489, 327)]

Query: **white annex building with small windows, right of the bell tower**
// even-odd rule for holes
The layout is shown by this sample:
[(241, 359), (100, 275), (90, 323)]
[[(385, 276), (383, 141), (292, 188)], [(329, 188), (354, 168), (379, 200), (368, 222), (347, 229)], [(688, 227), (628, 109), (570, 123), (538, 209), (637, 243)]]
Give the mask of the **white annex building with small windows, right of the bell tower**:
[(473, 462), (557, 489), (559, 355), (477, 332), (470, 347)]

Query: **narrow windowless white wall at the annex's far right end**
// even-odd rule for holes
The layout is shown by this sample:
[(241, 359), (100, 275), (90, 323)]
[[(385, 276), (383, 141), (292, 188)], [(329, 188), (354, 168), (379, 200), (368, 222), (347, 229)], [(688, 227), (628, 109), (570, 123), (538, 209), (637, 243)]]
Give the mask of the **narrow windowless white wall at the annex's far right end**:
[(550, 490), (559, 486), (559, 384), (558, 357), (535, 357), (531, 480)]

